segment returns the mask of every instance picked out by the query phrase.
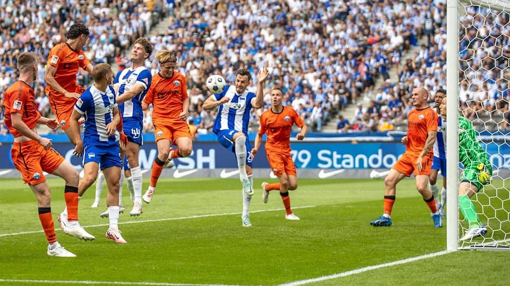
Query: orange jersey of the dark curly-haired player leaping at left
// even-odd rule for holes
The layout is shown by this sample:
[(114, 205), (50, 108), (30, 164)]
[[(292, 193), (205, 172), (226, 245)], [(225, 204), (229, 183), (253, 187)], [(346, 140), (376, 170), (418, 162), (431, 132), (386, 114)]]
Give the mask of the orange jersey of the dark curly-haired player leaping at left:
[[(89, 63), (83, 51), (75, 51), (71, 49), (69, 44), (60, 43), (49, 51), (47, 65), (57, 68), (54, 78), (60, 86), (69, 92), (80, 92), (76, 74), (78, 74), (79, 67), (85, 69)], [(54, 101), (72, 102), (73, 105), (76, 103), (75, 99), (64, 97), (63, 94), (49, 87), (49, 85), (46, 86), (46, 93), (50, 100), (54, 97)]]

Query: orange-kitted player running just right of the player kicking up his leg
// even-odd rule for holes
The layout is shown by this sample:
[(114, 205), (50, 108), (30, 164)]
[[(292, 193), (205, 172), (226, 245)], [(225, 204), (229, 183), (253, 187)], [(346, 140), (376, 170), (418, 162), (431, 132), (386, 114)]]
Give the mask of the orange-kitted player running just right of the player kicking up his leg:
[(290, 155), (290, 133), (292, 126), (296, 124), (301, 131), (296, 135), (302, 140), (307, 134), (307, 125), (303, 119), (291, 107), (283, 106), (284, 93), (282, 89), (275, 87), (271, 89), (271, 108), (264, 111), (260, 116), (260, 129), (255, 137), (255, 145), (251, 154), (255, 156), (262, 143), (262, 135), (267, 133), (266, 156), (274, 175), (278, 177), (279, 183), (262, 183), (262, 199), (267, 203), (269, 191), (280, 190), (280, 196), (285, 206), (287, 220), (299, 220), (290, 207), (289, 189), (297, 188), (296, 166)]

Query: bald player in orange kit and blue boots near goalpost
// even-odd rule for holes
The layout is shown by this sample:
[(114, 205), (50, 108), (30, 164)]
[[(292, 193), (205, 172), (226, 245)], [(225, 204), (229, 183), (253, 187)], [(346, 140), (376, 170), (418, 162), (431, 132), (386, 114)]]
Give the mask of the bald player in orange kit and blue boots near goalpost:
[(409, 127), (402, 138), (405, 153), (398, 159), (385, 179), (384, 213), (370, 224), (373, 226), (391, 226), (391, 210), (395, 202), (396, 185), (413, 172), (416, 188), (430, 208), (434, 227), (442, 227), (441, 215), (432, 192), (428, 189), (428, 176), (432, 166), (432, 147), (438, 130), (438, 114), (427, 104), (428, 91), (423, 87), (413, 89), (411, 100), (415, 109), (407, 115)]

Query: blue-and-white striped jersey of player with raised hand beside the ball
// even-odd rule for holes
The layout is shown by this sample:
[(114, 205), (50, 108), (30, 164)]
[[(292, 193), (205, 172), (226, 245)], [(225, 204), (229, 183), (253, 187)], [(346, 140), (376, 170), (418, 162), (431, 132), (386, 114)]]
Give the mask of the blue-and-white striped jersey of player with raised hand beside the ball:
[(225, 85), (223, 92), (213, 94), (216, 100), (228, 97), (231, 100), (221, 104), (213, 126), (215, 134), (220, 130), (234, 129), (238, 132), (248, 134), (248, 123), (250, 121), (251, 100), (256, 97), (255, 93), (244, 90), (242, 94), (236, 94), (235, 85)]

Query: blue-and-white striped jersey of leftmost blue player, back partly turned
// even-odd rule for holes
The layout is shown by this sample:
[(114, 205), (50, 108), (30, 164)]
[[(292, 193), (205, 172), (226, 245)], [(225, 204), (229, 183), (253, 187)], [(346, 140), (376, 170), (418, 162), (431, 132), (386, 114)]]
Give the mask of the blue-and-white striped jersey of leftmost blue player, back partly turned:
[(85, 131), (83, 132), (83, 145), (111, 146), (117, 144), (119, 133), (115, 136), (106, 135), (106, 126), (113, 120), (113, 109), (117, 106), (115, 91), (108, 86), (102, 92), (91, 85), (74, 105), (74, 110), (85, 117)]

